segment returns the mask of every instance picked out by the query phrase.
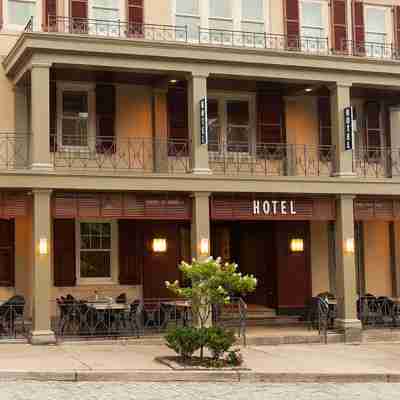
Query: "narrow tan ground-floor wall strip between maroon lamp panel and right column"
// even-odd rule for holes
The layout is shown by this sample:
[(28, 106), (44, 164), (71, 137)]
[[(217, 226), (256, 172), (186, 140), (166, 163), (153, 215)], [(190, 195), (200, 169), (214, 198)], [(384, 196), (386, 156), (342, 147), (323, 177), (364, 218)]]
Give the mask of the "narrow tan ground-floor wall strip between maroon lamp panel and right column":
[(312, 294), (329, 291), (328, 227), (326, 222), (312, 221), (311, 279)]

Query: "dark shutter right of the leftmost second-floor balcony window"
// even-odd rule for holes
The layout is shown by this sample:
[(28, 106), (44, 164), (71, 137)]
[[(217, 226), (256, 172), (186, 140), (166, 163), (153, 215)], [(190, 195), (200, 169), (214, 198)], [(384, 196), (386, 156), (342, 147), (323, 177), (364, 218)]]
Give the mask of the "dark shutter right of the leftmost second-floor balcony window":
[(96, 149), (99, 153), (115, 152), (115, 87), (96, 86)]

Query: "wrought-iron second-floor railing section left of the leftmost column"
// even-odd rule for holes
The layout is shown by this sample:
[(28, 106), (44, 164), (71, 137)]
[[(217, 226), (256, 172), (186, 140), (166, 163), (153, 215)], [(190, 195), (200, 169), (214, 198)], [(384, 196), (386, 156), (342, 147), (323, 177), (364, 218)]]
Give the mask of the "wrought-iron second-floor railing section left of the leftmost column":
[(24, 169), (29, 166), (29, 142), (27, 133), (0, 132), (0, 169)]

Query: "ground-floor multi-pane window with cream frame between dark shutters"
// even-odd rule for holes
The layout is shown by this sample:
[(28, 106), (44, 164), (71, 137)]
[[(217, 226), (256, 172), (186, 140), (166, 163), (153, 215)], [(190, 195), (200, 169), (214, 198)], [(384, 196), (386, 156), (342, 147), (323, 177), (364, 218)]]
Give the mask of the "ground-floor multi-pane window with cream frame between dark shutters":
[(114, 222), (77, 221), (78, 277), (111, 281), (115, 242)]

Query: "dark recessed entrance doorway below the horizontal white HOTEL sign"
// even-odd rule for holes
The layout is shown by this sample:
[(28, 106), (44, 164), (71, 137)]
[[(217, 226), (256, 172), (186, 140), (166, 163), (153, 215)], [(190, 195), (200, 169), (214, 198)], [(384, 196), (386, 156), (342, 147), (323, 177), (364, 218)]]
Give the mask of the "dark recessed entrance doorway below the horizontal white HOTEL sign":
[(237, 224), (239, 237), (239, 268), (257, 278), (254, 293), (246, 296), (249, 304), (276, 306), (276, 247), (274, 224)]

